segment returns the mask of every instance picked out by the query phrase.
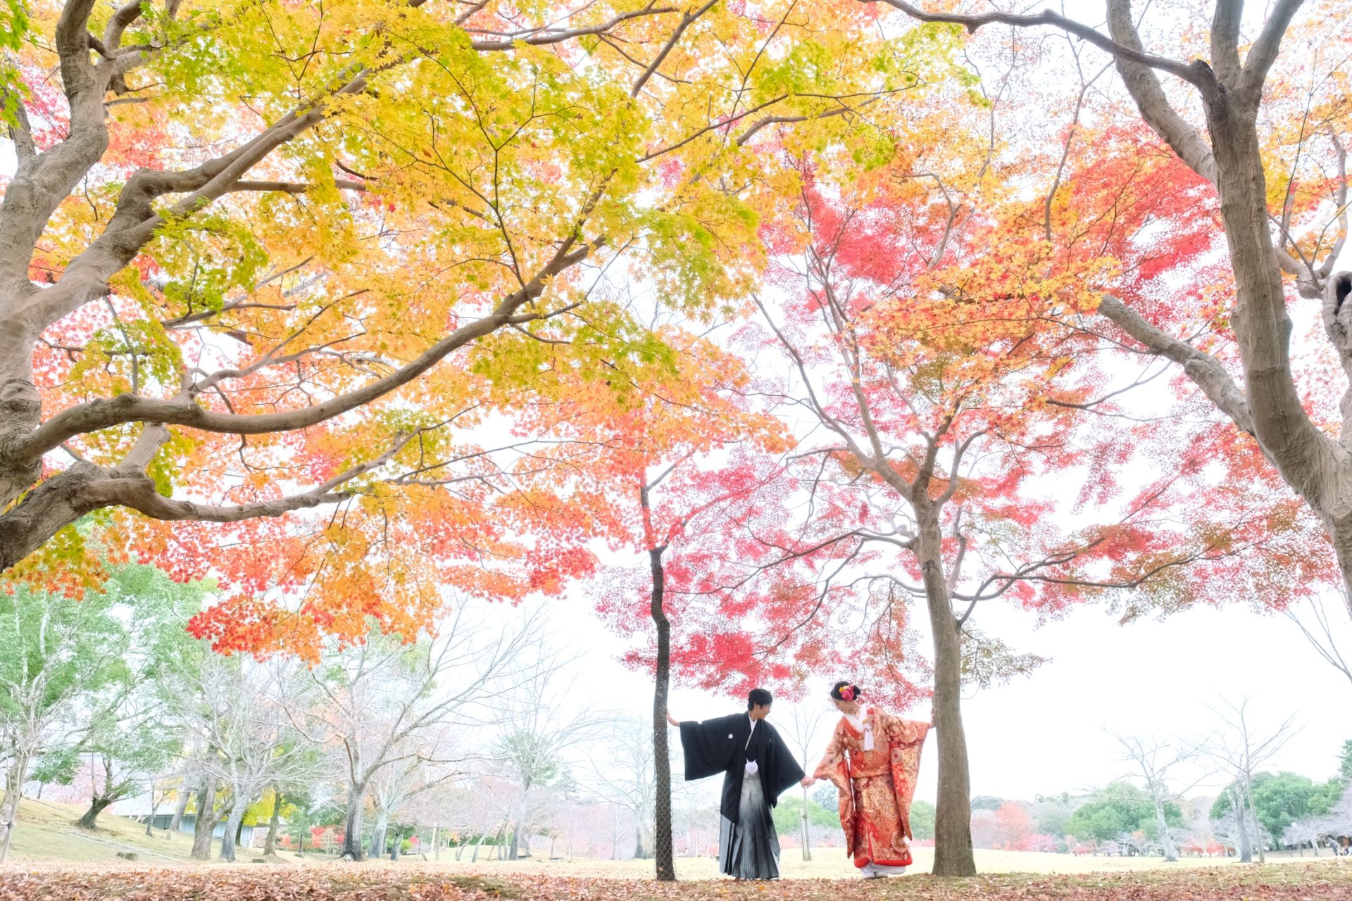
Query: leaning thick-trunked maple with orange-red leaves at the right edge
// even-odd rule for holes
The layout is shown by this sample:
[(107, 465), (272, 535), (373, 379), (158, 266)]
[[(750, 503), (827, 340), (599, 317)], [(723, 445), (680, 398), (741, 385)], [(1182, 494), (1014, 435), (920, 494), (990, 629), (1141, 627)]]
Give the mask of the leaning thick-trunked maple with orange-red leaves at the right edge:
[[(1132, 112), (1129, 119), (1106, 112), (1148, 126), (1186, 173), (1161, 181), (1152, 197), (1160, 232), (1191, 234), (1195, 243), (1182, 259), (1164, 254), (1151, 266), (1151, 290), (1106, 285), (1092, 319), (1111, 324), (1119, 347), (1182, 369), (1230, 424), (1220, 439), (1213, 430), (1213, 440), (1240, 461), (1237, 474), (1263, 465), (1279, 474), (1322, 527), (1336, 578), (1352, 585), (1352, 462), (1340, 438), (1352, 413), (1347, 385), (1340, 386), (1352, 359), (1344, 303), (1352, 276), (1334, 272), (1348, 230), (1345, 28), (1333, 24), (1345, 9), (1283, 0), (1255, 19), (1241, 0), (1188, 5), (1180, 15), (1210, 22), (1198, 34), (1180, 31), (1171, 14), (1136, 18), (1129, 0), (1109, 0), (1105, 34), (1049, 9), (968, 15), (887, 3), (917, 20), (971, 31), (1049, 27), (1107, 54)], [(1178, 58), (1146, 50), (1146, 41), (1167, 42)], [(1090, 147), (1079, 174), (1092, 180), (1099, 166), (1140, 165), (1144, 143), (1138, 136), (1103, 140)], [(1199, 265), (1213, 251), (1224, 254), (1222, 262)], [(1188, 282), (1183, 288), (1180, 278)], [(1302, 300), (1318, 301), (1318, 309)], [(1314, 371), (1293, 362), (1293, 311), (1318, 317), (1322, 335), (1310, 336), (1314, 353), (1305, 355), (1318, 361)], [(1188, 438), (1184, 432), (1179, 446), (1186, 448)]]

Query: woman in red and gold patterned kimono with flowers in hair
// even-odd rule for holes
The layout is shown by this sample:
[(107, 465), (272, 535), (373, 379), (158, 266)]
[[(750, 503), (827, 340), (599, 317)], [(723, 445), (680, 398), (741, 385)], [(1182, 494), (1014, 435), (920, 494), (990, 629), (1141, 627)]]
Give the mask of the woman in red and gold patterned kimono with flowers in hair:
[(929, 723), (903, 720), (860, 704), (857, 685), (837, 682), (831, 701), (844, 715), (813, 779), (840, 790), (845, 852), (865, 879), (900, 875), (911, 865), (910, 810)]

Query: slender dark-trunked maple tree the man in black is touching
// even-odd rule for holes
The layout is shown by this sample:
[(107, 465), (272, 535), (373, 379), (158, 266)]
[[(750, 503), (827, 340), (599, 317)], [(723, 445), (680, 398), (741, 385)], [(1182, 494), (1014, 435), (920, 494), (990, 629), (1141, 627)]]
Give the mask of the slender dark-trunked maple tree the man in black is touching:
[[(644, 558), (639, 569), (606, 580), (598, 609), (621, 632), (650, 639), (627, 661), (653, 673), (653, 856), (657, 878), (671, 881), (672, 669), (698, 670), (704, 684), (735, 673), (744, 689), (772, 677), (745, 646), (710, 648), (708, 632), (685, 623), (694, 607), (726, 615), (722, 607), (733, 589), (722, 561), (734, 558), (749, 570), (767, 552), (756, 523), (773, 503), (767, 489), (781, 469), (775, 455), (786, 438), (777, 419), (746, 401), (741, 358), (713, 336), (676, 326), (662, 326), (657, 335), (671, 349), (675, 378), (635, 374), (635, 390), (622, 405), (588, 403), (588, 392), (562, 380), (535, 416), (560, 436), (565, 457), (595, 455), (588, 467), (596, 478), (594, 515), (606, 521), (612, 543)], [(752, 586), (737, 588), (740, 609), (753, 609)]]

